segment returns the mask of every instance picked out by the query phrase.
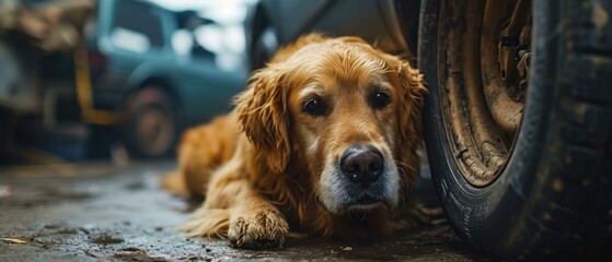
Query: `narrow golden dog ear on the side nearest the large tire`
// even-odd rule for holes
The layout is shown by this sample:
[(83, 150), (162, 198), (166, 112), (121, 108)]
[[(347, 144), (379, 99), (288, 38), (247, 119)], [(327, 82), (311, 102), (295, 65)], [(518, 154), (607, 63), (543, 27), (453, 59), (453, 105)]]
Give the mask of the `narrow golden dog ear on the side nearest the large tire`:
[[(408, 62), (399, 58), (385, 55), (389, 73), (397, 76), (400, 87), (399, 105), (399, 131), (396, 151), (400, 160), (408, 165), (418, 165), (416, 150), (422, 140), (422, 108), (427, 94), (427, 88), (423, 84), (423, 74), (417, 69), (412, 68)], [(418, 168), (418, 166), (412, 166)], [(414, 171), (409, 171), (414, 174)]]

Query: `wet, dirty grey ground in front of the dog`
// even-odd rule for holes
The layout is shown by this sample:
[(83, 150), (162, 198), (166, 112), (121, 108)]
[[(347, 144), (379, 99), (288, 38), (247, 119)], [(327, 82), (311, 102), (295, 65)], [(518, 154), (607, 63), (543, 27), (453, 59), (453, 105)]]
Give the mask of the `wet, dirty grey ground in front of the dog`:
[[(278, 250), (186, 239), (174, 228), (193, 204), (159, 186), (172, 168), (173, 162), (0, 167), (0, 261), (487, 260), (443, 219), (385, 240), (291, 239)], [(429, 181), (422, 181), (419, 195), (430, 201)]]

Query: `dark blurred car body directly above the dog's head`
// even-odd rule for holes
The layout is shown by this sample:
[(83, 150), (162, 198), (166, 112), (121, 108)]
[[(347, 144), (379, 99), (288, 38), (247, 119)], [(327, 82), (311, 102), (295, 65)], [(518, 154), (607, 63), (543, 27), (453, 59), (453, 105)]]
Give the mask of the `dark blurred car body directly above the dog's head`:
[(280, 46), (308, 32), (363, 37), (390, 53), (415, 57), (419, 1), (262, 0), (247, 15), (246, 50), (261, 68)]

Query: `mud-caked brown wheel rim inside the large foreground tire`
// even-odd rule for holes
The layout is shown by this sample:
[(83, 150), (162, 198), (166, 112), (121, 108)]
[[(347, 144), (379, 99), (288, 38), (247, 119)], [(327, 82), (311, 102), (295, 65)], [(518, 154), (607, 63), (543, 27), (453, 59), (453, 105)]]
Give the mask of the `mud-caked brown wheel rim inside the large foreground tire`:
[(465, 180), (486, 187), (503, 174), (522, 118), (531, 1), (451, 1), (444, 12), (438, 64), (449, 148)]

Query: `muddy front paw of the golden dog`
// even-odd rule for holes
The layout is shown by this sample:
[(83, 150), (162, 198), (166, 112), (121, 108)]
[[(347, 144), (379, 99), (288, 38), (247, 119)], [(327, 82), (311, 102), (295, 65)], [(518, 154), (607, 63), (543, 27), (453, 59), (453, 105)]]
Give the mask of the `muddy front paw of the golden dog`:
[(230, 222), (228, 237), (238, 248), (280, 248), (289, 225), (278, 211), (245, 213)]

